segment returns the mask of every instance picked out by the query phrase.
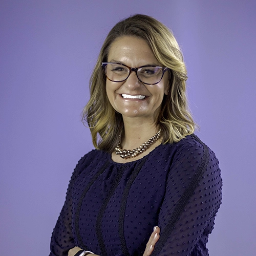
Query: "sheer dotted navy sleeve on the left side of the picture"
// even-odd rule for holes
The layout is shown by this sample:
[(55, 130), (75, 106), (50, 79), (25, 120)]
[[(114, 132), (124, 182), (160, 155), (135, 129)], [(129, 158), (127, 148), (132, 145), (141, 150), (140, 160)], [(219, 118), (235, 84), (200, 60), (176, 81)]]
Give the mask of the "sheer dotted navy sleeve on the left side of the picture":
[[(87, 156), (87, 155), (86, 155)], [(67, 256), (68, 251), (75, 247), (74, 239), (72, 236), (72, 187), (75, 183), (76, 178), (79, 176), (83, 168), (82, 163), (86, 159), (86, 156), (81, 158), (76, 165), (74, 172), (71, 176), (70, 183), (68, 186), (66, 200), (61, 209), (59, 218), (55, 225), (52, 233), (50, 243), (50, 255), (49, 256)]]

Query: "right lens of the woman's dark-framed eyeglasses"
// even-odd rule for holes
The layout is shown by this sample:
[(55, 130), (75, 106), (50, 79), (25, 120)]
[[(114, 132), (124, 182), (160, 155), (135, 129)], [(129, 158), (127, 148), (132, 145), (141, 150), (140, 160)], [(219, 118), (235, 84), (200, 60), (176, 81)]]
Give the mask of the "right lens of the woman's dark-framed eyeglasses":
[(143, 67), (138, 69), (139, 79), (148, 84), (158, 83), (163, 75), (163, 71), (160, 67)]

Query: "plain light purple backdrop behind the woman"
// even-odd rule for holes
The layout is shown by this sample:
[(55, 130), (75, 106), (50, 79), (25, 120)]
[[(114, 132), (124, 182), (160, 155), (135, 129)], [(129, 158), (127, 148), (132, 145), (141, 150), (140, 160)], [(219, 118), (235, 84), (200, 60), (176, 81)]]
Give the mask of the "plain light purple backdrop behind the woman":
[(211, 256), (256, 251), (256, 1), (0, 1), (0, 255), (45, 256), (77, 161), (80, 122), (109, 30), (135, 13), (176, 35), (197, 134), (220, 160), (223, 204)]

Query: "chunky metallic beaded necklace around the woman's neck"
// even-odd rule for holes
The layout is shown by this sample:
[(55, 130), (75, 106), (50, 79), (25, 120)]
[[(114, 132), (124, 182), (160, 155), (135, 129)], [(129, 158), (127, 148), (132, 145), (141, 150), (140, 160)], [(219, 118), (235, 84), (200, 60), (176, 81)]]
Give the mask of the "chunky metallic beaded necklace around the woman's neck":
[(147, 150), (147, 148), (156, 140), (160, 138), (161, 129), (148, 141), (142, 143), (139, 147), (136, 147), (134, 150), (122, 150), (121, 148), (121, 134), (119, 135), (119, 142), (115, 147), (116, 154), (119, 155), (121, 158), (132, 158), (136, 157), (137, 155), (143, 153)]

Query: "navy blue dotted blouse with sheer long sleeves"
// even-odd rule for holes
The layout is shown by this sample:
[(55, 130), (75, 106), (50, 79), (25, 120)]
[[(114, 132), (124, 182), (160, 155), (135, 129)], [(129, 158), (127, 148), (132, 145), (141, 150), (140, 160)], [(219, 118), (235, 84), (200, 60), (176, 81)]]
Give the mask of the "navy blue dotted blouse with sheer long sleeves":
[(75, 246), (101, 256), (142, 255), (154, 226), (161, 232), (152, 256), (206, 256), (221, 187), (218, 159), (195, 135), (128, 163), (93, 150), (71, 177), (50, 256)]

